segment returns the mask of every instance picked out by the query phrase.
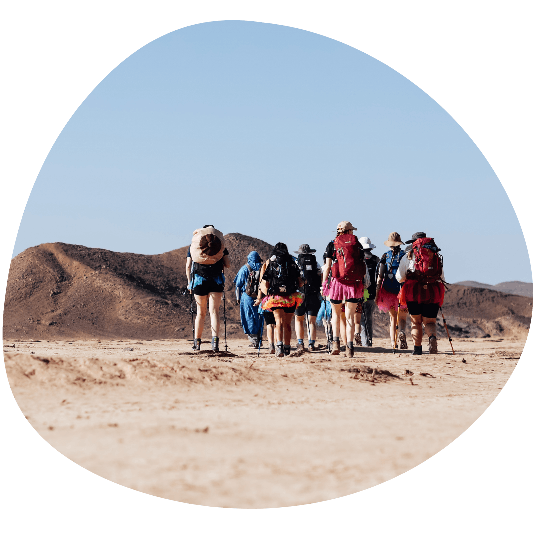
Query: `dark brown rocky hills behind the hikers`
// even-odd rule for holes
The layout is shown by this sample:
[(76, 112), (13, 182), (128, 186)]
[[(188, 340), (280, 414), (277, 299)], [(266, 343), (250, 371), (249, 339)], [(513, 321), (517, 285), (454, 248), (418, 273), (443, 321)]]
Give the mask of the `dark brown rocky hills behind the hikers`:
[[(225, 239), (232, 262), (225, 272), (227, 334), (240, 337), (234, 277), (249, 252), (258, 251), (267, 258), (272, 246), (239, 233), (227, 234)], [(59, 243), (27, 249), (11, 261), (3, 337), (191, 339), (190, 299), (181, 294), (187, 285), (187, 250), (138, 255)], [(456, 337), (528, 332), (532, 299), (458, 285), (450, 289), (444, 313)], [(388, 335), (388, 316), (378, 311), (374, 334)], [(205, 338), (209, 336), (206, 330)]]

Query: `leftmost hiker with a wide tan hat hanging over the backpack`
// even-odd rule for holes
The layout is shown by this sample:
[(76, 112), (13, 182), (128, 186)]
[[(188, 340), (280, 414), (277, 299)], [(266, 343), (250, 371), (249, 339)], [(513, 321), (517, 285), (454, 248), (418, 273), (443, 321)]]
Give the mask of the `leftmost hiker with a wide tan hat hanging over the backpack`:
[(219, 352), (219, 306), (225, 290), (224, 268), (231, 267), (225, 238), (213, 225), (205, 225), (193, 233), (187, 252), (186, 275), (188, 289), (197, 302), (195, 319), (195, 350), (201, 349), (206, 309), (210, 310), (212, 350)]

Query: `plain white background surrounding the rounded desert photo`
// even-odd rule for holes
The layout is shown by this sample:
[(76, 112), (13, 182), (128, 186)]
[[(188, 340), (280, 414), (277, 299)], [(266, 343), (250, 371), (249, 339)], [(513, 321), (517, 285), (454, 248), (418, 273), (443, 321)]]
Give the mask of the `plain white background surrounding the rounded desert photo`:
[[(2, 299), (33, 182), (80, 103), (151, 40), (223, 19), (321, 33), (412, 80), (487, 157), (531, 247), (538, 225), (538, 195), (532, 191), (538, 180), (538, 11), (532, 2), (260, 4), (49, 0), (6, 6), (0, 32)], [(512, 259), (511, 246), (483, 246), (474, 231), (471, 240), (497, 260), (506, 254), (508, 264), (529, 264)], [(533, 267), (536, 259), (532, 251)], [(107, 482), (66, 460), (33, 431), (2, 374), (2, 529), (7, 538), (529, 537), (538, 509), (538, 367), (530, 341), (495, 403), (440, 454), (360, 494), (279, 510), (193, 507)]]

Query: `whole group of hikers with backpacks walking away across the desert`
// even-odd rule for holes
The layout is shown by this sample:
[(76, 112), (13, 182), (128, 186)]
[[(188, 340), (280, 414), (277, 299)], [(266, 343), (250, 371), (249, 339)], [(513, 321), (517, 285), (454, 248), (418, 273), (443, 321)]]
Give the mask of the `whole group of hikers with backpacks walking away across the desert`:
[[(309, 352), (315, 351), (318, 324), (326, 332), (328, 352), (354, 357), (354, 345), (373, 346), (373, 312), (377, 306), (390, 316), (394, 350), (407, 350), (407, 316), (410, 316), (413, 355), (422, 354), (424, 332), (429, 354), (437, 354), (436, 319), (444, 301), (443, 260), (440, 249), (426, 233), (415, 233), (403, 242), (393, 232), (384, 242), (389, 251), (379, 259), (368, 237), (358, 239), (349, 221), (342, 221), (337, 235), (323, 254), (322, 266), (315, 249), (303, 244), (289, 254), (285, 244), (274, 246), (266, 261), (252, 251), (240, 268), (234, 285), (240, 319), (249, 347), (259, 348), (266, 325), (268, 353), (278, 358), (291, 354), (292, 320), (298, 345), (305, 350), (305, 322)], [(402, 246), (406, 246), (402, 248)], [(193, 324), (193, 349), (200, 350), (207, 307), (212, 327), (212, 350), (219, 352), (219, 306), (224, 298), (224, 269), (231, 260), (223, 234), (213, 225), (193, 233), (187, 253), (188, 290), (197, 302)], [(192, 311), (193, 313), (193, 311)], [(307, 320), (306, 320), (307, 315)]]

